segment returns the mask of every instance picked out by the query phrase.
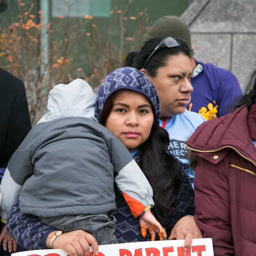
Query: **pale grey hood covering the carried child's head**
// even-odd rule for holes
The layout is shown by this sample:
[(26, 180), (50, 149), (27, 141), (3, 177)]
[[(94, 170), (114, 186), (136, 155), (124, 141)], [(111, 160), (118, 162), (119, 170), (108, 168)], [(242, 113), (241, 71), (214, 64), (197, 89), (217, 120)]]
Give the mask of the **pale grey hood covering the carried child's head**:
[(38, 123), (63, 117), (87, 117), (97, 121), (95, 100), (96, 95), (91, 86), (82, 79), (75, 79), (69, 84), (55, 85), (49, 92), (48, 113)]

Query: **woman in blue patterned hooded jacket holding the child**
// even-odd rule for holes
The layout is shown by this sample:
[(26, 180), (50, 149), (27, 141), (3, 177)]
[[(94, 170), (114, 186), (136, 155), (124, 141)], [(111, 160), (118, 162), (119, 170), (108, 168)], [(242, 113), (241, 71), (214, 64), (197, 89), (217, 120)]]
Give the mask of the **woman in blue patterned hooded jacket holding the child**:
[[(96, 117), (127, 146), (153, 187), (156, 218), (166, 227), (170, 238), (186, 239), (185, 250), (192, 238), (200, 238), (192, 215), (194, 192), (180, 162), (168, 154), (169, 137), (159, 126), (160, 104), (153, 86), (145, 86), (146, 75), (134, 68), (114, 70), (102, 82), (96, 99)], [(153, 88), (153, 91), (152, 91)], [(154, 92), (154, 93), (153, 93)], [(147, 116), (154, 115), (153, 123)], [(152, 157), (154, 155), (154, 157)], [(181, 187), (180, 187), (181, 186)], [(116, 194), (116, 236), (118, 242), (144, 241), (138, 220), (131, 220), (124, 199)], [(46, 249), (55, 229), (31, 215), (21, 215), (18, 202), (9, 215), (7, 228), (19, 244), (27, 249)], [(146, 240), (149, 238), (147, 237)], [(88, 244), (95, 246), (89, 233), (75, 230), (55, 239), (53, 248), (70, 255), (88, 255)]]

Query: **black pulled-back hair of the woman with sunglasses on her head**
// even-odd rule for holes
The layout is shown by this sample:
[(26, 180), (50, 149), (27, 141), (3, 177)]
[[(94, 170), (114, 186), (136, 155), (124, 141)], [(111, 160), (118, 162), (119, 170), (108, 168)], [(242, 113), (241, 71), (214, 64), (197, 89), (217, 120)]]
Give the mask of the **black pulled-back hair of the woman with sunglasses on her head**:
[[(124, 66), (131, 66), (138, 70), (143, 69), (146, 60), (153, 50), (158, 46), (163, 38), (152, 38), (142, 47), (139, 52), (131, 52), (127, 55), (124, 60)], [(170, 56), (177, 56), (179, 54), (184, 54), (186, 56), (190, 55), (190, 49), (186, 46), (184, 42), (181, 41), (181, 46), (173, 48), (162, 48), (149, 60), (146, 65), (146, 71), (151, 77), (157, 75), (157, 71), (162, 66), (167, 65), (167, 59)]]

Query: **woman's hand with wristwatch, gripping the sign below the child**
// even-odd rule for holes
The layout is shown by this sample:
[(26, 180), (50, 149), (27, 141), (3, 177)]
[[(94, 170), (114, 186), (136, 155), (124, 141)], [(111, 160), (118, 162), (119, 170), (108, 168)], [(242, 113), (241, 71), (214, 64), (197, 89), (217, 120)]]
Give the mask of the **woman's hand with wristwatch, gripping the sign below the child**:
[[(50, 248), (50, 240), (56, 231), (50, 233), (46, 240), (46, 246)], [(58, 236), (53, 241), (53, 249), (62, 249), (70, 256), (89, 256), (90, 245), (94, 255), (98, 254), (98, 243), (94, 236), (84, 230), (74, 230)]]

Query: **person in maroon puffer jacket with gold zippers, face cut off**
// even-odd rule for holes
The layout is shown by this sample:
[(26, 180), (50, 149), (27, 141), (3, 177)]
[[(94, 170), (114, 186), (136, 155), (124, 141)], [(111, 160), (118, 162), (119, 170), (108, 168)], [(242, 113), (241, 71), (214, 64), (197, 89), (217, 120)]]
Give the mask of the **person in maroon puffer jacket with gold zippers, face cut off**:
[(187, 141), (197, 158), (195, 219), (214, 255), (256, 251), (256, 69), (230, 114), (204, 122)]

